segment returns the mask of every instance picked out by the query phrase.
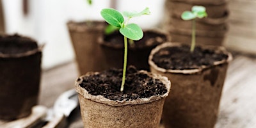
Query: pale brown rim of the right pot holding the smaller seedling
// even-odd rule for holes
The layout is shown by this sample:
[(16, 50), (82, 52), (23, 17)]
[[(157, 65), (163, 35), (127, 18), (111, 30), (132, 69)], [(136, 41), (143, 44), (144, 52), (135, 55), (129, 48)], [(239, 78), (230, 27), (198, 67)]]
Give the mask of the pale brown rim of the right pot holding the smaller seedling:
[[(184, 70), (173, 70), (173, 69), (165, 69), (165, 68), (161, 68), (158, 67), (156, 65), (156, 63), (154, 63), (154, 61), (152, 61), (153, 59), (153, 55), (156, 54), (157, 51), (159, 51), (160, 49), (162, 49), (163, 47), (173, 47), (173, 46), (180, 46), (182, 44), (178, 43), (178, 42), (165, 42), (164, 44), (158, 45), (156, 48), (152, 49), (152, 51), (150, 52), (150, 55), (148, 57), (148, 64), (150, 65), (150, 67), (155, 68), (157, 71), (159, 72), (164, 72), (164, 73), (176, 73), (176, 74), (196, 74), (198, 72), (202, 72), (202, 70), (205, 70), (207, 68), (210, 68), (212, 66), (205, 66), (202, 65), (202, 67), (200, 68), (196, 68), (196, 69), (184, 69)], [(203, 49), (216, 49), (215, 51), (217, 52), (223, 52), (224, 54), (228, 55), (227, 60), (221, 60), (221, 61), (215, 61), (213, 66), (216, 65), (221, 65), (223, 63), (229, 63), (230, 61), (232, 61), (232, 54), (230, 52), (228, 52), (225, 47), (222, 46), (201, 46)]]

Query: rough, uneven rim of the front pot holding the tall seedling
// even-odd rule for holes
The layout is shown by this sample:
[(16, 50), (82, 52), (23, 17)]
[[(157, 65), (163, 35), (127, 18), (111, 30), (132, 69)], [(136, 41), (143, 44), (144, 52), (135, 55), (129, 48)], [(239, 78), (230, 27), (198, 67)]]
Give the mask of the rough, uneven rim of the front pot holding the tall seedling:
[(167, 77), (164, 76), (160, 76), (158, 74), (152, 74), (150, 72), (147, 72), (145, 70), (140, 70), (140, 73), (143, 74), (147, 74), (148, 76), (153, 77), (154, 79), (159, 79), (166, 87), (167, 92), (164, 93), (164, 95), (152, 95), (149, 98), (140, 98), (140, 99), (136, 99), (136, 100), (110, 100), (107, 99), (105, 97), (103, 97), (102, 95), (91, 95), (90, 93), (88, 93), (87, 90), (85, 90), (84, 88), (82, 88), (81, 86), (79, 86), (79, 83), (81, 83), (83, 81), (83, 77), (86, 76), (90, 76), (93, 74), (99, 74), (99, 72), (88, 72), (83, 76), (80, 76), (76, 79), (75, 81), (75, 86), (76, 86), (76, 91), (77, 93), (79, 93), (80, 95), (82, 95), (85, 99), (90, 99), (93, 100), (95, 102), (99, 102), (101, 104), (107, 104), (109, 106), (125, 106), (125, 105), (135, 105), (135, 104), (147, 104), (149, 102), (154, 102), (156, 100), (160, 100), (160, 99), (164, 99), (165, 97), (168, 96), (170, 89), (171, 89), (171, 82), (168, 80)]

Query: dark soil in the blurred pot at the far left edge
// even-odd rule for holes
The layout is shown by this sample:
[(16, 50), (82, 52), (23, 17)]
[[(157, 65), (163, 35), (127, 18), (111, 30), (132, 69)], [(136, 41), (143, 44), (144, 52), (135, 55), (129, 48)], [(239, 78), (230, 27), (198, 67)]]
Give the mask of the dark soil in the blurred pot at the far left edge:
[(19, 35), (0, 36), (0, 54), (19, 54), (37, 47), (35, 40), (31, 38)]

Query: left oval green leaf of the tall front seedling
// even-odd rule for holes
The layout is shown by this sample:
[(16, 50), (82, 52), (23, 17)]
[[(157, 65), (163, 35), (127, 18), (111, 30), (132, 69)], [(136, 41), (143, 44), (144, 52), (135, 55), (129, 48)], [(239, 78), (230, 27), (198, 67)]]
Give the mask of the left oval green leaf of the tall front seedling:
[(124, 22), (123, 15), (112, 8), (102, 9), (100, 14), (106, 20), (106, 22), (108, 22), (108, 24), (111, 24), (112, 26), (121, 28), (122, 23)]

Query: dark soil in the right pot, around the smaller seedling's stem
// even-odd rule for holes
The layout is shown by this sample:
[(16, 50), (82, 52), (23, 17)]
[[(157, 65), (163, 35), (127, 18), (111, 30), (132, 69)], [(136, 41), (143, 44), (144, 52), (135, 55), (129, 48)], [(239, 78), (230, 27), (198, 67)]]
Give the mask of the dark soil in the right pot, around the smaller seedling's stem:
[(196, 47), (190, 52), (190, 46), (165, 47), (156, 52), (153, 61), (158, 67), (173, 70), (196, 69), (202, 65), (211, 66), (215, 61), (227, 60), (227, 54), (216, 53), (211, 49)]

